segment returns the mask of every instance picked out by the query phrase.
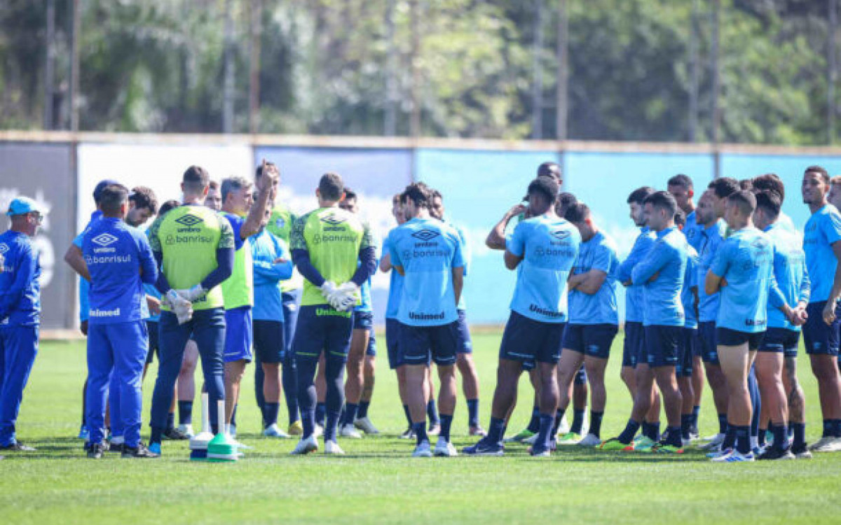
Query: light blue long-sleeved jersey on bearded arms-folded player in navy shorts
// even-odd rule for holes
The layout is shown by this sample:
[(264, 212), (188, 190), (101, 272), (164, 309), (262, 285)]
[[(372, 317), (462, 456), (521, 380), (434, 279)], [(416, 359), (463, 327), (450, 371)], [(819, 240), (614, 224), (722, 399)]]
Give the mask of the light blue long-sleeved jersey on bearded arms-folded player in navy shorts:
[(643, 324), (683, 326), (685, 313), (680, 292), (686, 275), (689, 244), (676, 227), (657, 233), (648, 255), (631, 272), (631, 281), (643, 285)]

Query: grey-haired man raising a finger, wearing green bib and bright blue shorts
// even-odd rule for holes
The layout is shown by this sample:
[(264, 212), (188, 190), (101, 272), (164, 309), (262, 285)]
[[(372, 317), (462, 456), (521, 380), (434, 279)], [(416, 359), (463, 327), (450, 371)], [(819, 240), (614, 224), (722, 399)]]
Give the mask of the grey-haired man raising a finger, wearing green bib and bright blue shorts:
[(257, 179), (257, 200), (251, 182), (242, 177), (222, 181), (222, 215), (234, 230), (234, 270), (222, 281), (225, 298), (225, 424), (236, 436), (236, 404), (240, 400), (240, 383), (251, 362), (254, 342), (251, 307), (254, 305), (254, 261), (251, 259), (251, 235), (257, 234), (266, 218), (268, 202), (273, 198), (273, 182), (277, 170), (267, 167)]

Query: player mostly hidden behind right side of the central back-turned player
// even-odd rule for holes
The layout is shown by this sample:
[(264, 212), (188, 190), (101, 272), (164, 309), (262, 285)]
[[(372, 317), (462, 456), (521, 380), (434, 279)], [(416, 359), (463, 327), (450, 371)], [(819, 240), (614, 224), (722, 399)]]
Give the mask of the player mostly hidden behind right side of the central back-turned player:
[[(467, 234), (463, 228), (447, 221), (444, 214), (444, 197), (438, 190), (432, 190), (432, 205), (430, 214), (433, 218), (447, 223), (455, 228), (458, 239), (462, 243), (462, 259), (464, 260), (464, 276), (468, 275), (470, 260), (472, 259), (470, 244)], [(476, 365), (473, 363), (473, 340), (470, 339), (470, 328), (467, 322), (467, 303), (464, 301), (464, 294), (458, 300), (458, 351), (456, 353), (456, 367), (462, 375), (462, 388), (464, 398), (468, 403), (468, 433), (471, 436), (484, 436), (485, 431), (479, 425), (479, 375), (476, 373)]]

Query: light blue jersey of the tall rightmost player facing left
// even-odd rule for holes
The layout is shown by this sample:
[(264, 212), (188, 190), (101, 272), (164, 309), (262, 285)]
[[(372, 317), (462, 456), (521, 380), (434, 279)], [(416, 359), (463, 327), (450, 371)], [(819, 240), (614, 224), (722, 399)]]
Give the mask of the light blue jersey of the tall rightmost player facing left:
[(806, 266), (812, 280), (811, 302), (829, 299), (838, 263), (833, 243), (838, 240), (841, 240), (841, 215), (834, 206), (827, 204), (812, 213), (803, 234), (803, 251), (806, 252)]

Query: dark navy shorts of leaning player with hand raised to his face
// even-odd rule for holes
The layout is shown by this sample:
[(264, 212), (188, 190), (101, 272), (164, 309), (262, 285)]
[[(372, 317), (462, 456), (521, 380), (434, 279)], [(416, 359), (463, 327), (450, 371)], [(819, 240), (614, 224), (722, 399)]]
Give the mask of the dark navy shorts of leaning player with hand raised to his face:
[(520, 361), (526, 370), (534, 368), (536, 363), (557, 364), (566, 325), (536, 321), (512, 311), (502, 333), (500, 359)]

